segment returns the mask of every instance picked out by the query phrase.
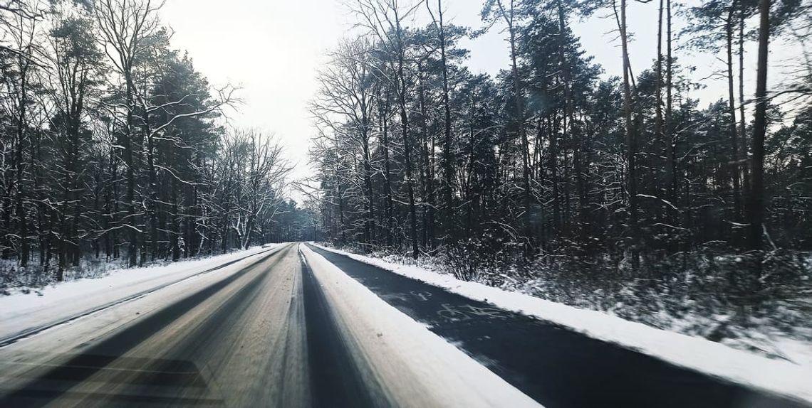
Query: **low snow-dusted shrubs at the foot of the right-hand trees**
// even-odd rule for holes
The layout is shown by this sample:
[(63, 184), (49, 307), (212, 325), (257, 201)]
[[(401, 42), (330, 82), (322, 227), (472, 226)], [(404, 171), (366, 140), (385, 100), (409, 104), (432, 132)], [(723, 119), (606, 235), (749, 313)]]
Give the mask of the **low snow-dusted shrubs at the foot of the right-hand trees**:
[(812, 342), (810, 254), (699, 249), (647, 257), (637, 271), (611, 256), (542, 257), (516, 287), (546, 300), (610, 312), (660, 329), (781, 355), (775, 342)]

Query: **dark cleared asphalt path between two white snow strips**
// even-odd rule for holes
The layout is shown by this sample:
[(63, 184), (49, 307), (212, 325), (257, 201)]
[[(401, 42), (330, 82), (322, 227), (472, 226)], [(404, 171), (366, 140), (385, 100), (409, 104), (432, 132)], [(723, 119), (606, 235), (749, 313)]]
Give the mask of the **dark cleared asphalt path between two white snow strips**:
[(547, 408), (804, 406), (309, 248)]

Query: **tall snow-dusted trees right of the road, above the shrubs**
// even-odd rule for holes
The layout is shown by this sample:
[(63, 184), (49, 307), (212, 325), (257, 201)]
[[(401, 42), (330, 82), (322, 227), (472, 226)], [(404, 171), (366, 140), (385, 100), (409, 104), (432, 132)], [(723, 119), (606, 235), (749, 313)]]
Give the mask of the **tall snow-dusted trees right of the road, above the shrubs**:
[[(676, 2), (647, 3), (636, 6), (657, 8), (646, 35), (659, 57), (633, 67), (625, 0), (488, 0), (483, 25), (510, 56), (492, 78), (466, 68), (460, 39), (478, 33), (449, 23), (442, 0), (349, 2), (361, 33), (333, 51), (312, 103), (327, 239), (415, 258), (464, 249), (633, 268), (709, 246), (812, 249), (810, 56), (767, 87), (767, 57), (789, 57), (771, 41), (806, 40), (810, 3), (680, 6), (680, 32)], [(620, 78), (602, 79), (572, 33), (596, 13), (617, 23)], [(677, 40), (686, 61), (725, 62), (726, 98), (692, 97), (702, 83)], [(758, 90), (745, 89), (752, 78)]]

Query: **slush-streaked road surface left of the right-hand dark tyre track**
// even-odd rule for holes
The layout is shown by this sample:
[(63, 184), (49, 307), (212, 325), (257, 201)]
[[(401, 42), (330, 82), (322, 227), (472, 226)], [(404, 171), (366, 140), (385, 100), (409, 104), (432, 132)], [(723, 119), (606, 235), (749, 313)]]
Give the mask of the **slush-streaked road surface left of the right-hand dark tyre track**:
[(288, 244), (0, 347), (0, 406), (307, 406), (299, 266)]

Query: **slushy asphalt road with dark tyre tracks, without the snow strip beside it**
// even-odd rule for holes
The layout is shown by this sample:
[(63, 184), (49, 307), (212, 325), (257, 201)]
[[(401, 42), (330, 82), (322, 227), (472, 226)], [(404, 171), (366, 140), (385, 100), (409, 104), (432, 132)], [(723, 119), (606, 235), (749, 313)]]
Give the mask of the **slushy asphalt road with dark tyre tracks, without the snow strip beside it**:
[(20, 342), (0, 406), (368, 406), (301, 265), (288, 245), (67, 353)]

